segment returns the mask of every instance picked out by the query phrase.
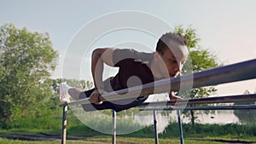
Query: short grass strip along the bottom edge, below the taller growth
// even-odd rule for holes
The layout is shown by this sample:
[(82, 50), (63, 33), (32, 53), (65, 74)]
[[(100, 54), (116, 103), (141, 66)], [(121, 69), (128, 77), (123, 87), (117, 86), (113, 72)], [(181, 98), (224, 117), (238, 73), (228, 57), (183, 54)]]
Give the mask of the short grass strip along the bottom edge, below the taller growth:
[[(22, 140), (22, 141), (21, 141)], [(111, 135), (102, 136), (76, 136), (68, 135), (67, 144), (109, 144), (112, 141)], [(60, 144), (60, 135), (48, 135), (38, 132), (18, 132), (2, 131), (0, 132), (1, 144)], [(117, 144), (152, 144), (154, 138), (143, 137), (124, 137), (117, 136)], [(161, 138), (160, 144), (177, 144), (180, 143), (179, 137)], [(186, 144), (230, 144), (230, 143), (256, 143), (256, 138), (229, 138), (225, 137), (189, 137), (184, 139)]]

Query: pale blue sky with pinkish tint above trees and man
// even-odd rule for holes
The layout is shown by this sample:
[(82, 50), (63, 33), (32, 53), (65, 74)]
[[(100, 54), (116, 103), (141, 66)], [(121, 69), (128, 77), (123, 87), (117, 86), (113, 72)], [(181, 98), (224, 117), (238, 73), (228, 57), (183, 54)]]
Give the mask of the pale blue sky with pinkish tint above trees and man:
[[(201, 47), (224, 65), (255, 59), (255, 5), (254, 0), (0, 0), (0, 26), (11, 22), (32, 32), (49, 32), (60, 55), (53, 77), (91, 80), (92, 49), (136, 46), (152, 51), (160, 32), (178, 25), (195, 28)], [(129, 15), (119, 18), (122, 12)], [(126, 24), (138, 28), (124, 28)], [(105, 75), (116, 72), (107, 71)], [(254, 92), (255, 82), (218, 85), (218, 95), (241, 94), (246, 89)]]

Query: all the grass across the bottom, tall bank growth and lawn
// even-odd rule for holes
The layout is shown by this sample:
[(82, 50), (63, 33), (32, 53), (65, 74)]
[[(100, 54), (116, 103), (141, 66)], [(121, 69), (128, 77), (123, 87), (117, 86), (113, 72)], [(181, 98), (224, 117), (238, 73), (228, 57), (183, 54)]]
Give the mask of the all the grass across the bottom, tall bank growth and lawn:
[[(69, 118), (71, 119), (71, 118)], [(55, 120), (52, 120), (55, 123)], [(19, 121), (20, 122), (20, 121)], [(50, 121), (46, 121), (46, 126)], [(0, 144), (60, 144), (61, 124), (47, 129), (44, 124), (32, 124), (30, 121), (13, 123), (14, 128), (0, 129)], [(21, 127), (22, 126), (22, 127)], [(15, 129), (16, 128), (16, 129)], [(166, 133), (160, 134), (160, 144), (178, 144), (179, 132), (176, 123), (166, 127)], [(256, 126), (244, 124), (183, 124), (184, 143), (186, 144), (256, 144)], [(69, 123), (67, 128), (67, 144), (109, 144), (111, 135), (91, 130), (84, 124)], [(21, 141), (22, 140), (22, 141)], [(154, 127), (145, 127), (143, 130), (128, 134), (117, 135), (117, 144), (153, 144)]]

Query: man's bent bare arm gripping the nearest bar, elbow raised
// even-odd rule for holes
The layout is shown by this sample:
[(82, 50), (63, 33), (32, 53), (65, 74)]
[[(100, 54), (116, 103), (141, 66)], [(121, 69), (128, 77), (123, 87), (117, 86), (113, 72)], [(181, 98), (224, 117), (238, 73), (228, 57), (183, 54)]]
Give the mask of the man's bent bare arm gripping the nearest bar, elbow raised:
[(100, 90), (104, 89), (104, 84), (102, 80), (102, 74), (104, 69), (103, 64), (106, 63), (108, 66), (114, 66), (113, 51), (114, 49), (112, 48), (95, 49), (91, 55), (91, 73), (96, 88), (95, 92), (90, 95), (90, 100), (93, 103), (102, 103), (102, 101), (99, 101), (98, 97), (101, 93)]

